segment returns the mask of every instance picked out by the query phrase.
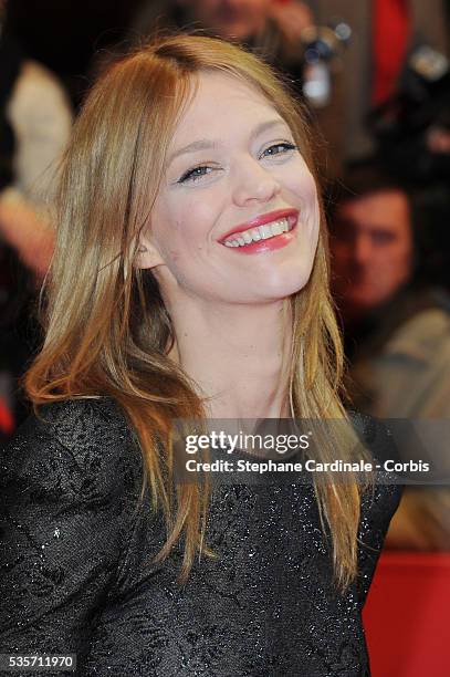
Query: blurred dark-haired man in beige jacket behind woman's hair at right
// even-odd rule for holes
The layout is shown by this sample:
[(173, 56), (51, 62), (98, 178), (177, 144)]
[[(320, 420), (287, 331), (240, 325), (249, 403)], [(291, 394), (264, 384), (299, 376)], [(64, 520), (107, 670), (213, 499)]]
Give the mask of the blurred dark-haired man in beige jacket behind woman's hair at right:
[[(376, 167), (345, 186), (331, 244), (350, 406), (381, 418), (450, 419), (450, 298), (426, 281), (420, 210)], [(449, 515), (448, 488), (409, 489), (387, 542), (450, 550)]]

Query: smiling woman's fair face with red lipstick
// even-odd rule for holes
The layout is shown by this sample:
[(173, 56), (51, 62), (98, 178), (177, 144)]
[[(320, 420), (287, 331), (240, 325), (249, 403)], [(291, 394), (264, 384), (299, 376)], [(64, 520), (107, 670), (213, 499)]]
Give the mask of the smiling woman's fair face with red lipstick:
[(311, 274), (320, 210), (292, 133), (259, 92), (202, 73), (143, 233), (140, 265), (167, 301), (266, 303)]

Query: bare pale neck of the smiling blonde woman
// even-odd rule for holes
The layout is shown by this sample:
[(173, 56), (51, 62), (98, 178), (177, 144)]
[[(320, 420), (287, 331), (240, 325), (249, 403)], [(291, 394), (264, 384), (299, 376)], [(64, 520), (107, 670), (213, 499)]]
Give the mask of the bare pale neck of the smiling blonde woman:
[[(286, 303), (289, 308), (289, 303)], [(291, 313), (271, 304), (169, 309), (170, 357), (193, 379), (209, 418), (289, 417)]]

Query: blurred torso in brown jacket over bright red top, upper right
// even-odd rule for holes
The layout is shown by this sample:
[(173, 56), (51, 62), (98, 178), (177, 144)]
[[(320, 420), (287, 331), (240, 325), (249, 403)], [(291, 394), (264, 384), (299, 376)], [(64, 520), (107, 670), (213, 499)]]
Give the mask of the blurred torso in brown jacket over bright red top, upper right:
[[(449, 55), (448, 3), (444, 0), (305, 0), (314, 23), (343, 21), (352, 37), (336, 63), (333, 97), (320, 112), (321, 127), (331, 153), (342, 153), (347, 165), (374, 155), (378, 149), (376, 124), (379, 106), (396, 100), (414, 98), (410, 90), (410, 59), (420, 49)], [(412, 85), (416, 87), (416, 85)], [(421, 104), (411, 102), (414, 108)], [(414, 114), (414, 111), (409, 111)], [(398, 107), (397, 107), (398, 113)], [(375, 117), (375, 119), (374, 119)], [(402, 121), (399, 123), (401, 131)], [(414, 143), (409, 133), (409, 143)], [(389, 139), (387, 150), (391, 150)]]

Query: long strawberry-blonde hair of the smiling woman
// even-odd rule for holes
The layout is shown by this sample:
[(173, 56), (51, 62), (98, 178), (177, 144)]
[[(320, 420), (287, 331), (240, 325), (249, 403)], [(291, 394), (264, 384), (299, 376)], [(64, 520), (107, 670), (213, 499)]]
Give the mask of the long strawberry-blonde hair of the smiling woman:
[[(199, 35), (159, 38), (113, 64), (92, 88), (75, 123), (59, 195), (57, 237), (46, 285), (46, 337), (25, 376), (35, 410), (69, 398), (113, 397), (137, 434), (144, 489), (161, 504), (165, 559), (185, 537), (179, 582), (186, 582), (203, 545), (209, 492), (172, 486), (171, 421), (203, 419), (203, 405), (187, 374), (168, 358), (174, 341), (158, 285), (134, 260), (164, 176), (174, 128), (202, 71), (228, 73), (254, 86), (289, 124), (314, 170), (302, 106), (271, 69), (234, 44)], [(328, 257), (322, 211), (313, 271), (290, 299), (292, 414), (343, 419), (338, 397), (342, 344), (328, 292)], [(332, 460), (326, 445), (320, 451)], [(168, 479), (167, 479), (168, 478)], [(322, 524), (329, 527), (334, 571), (344, 589), (357, 572), (357, 482), (316, 485)], [(142, 494), (142, 496), (143, 496)]]

